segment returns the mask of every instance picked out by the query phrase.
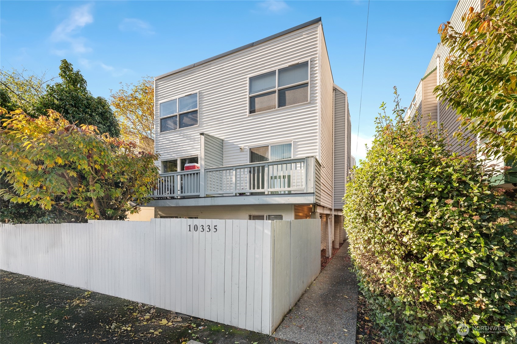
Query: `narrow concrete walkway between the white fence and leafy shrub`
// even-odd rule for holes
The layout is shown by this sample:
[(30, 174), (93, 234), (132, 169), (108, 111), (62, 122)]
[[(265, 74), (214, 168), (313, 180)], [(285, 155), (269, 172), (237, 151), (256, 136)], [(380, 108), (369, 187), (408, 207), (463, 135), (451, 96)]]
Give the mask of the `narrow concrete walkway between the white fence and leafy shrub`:
[(274, 337), (302, 344), (355, 343), (357, 280), (348, 270), (347, 250), (345, 242), (287, 313)]

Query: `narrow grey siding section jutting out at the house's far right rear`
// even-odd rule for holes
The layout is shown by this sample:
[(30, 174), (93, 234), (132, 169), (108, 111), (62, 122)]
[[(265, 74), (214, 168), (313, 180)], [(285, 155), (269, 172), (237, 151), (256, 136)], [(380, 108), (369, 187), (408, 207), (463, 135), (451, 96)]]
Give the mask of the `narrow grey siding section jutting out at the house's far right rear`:
[[(348, 119), (348, 120), (347, 120)], [(343, 207), (346, 177), (350, 164), (350, 150), (348, 144), (349, 116), (347, 116), (346, 94), (334, 88), (334, 209)]]

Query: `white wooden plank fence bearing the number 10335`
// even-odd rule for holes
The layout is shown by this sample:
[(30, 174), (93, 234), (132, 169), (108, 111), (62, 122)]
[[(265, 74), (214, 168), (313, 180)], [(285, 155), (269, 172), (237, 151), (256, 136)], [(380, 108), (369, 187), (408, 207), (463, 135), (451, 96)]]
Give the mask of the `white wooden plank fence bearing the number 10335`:
[(320, 272), (320, 220), (0, 225), (0, 268), (271, 334)]

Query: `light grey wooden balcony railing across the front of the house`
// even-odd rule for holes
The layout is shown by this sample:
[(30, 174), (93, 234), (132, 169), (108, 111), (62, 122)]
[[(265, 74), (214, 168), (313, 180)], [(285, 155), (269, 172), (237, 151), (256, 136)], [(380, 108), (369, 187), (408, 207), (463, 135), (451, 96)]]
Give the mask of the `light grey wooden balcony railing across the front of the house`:
[(160, 174), (151, 197), (271, 195), (314, 192), (314, 157)]

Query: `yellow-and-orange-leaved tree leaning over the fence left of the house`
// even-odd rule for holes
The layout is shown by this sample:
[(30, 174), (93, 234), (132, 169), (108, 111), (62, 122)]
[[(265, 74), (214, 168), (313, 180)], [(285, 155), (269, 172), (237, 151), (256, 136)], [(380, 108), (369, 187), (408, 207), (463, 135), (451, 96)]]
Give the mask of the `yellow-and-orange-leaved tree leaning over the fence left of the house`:
[(75, 126), (53, 110), (38, 118), (0, 111), (7, 117), (0, 129), (0, 168), (12, 183), (12, 189), (0, 190), (1, 197), (111, 220), (133, 212), (152, 193), (155, 154), (99, 134), (96, 126)]

